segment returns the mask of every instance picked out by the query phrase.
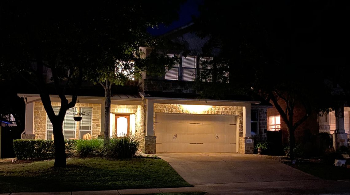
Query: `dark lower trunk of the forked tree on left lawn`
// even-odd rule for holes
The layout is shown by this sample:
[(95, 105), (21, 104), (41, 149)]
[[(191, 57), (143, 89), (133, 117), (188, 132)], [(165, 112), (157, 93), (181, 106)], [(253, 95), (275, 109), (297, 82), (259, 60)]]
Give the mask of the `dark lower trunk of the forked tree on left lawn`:
[(54, 146), (55, 146), (55, 164), (54, 167), (66, 167), (66, 153), (65, 153), (65, 143), (63, 137), (62, 124), (63, 120), (57, 119), (51, 122), (53, 126), (54, 133)]

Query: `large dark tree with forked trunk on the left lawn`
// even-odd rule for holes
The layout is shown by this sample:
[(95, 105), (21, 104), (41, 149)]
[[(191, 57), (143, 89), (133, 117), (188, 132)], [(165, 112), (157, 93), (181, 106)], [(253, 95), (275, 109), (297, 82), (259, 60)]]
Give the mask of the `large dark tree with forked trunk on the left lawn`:
[[(85, 75), (96, 70), (93, 68), (96, 65), (109, 66), (123, 60), (115, 58), (120, 54), (133, 54), (134, 48), (139, 48), (146, 38), (146, 27), (167, 21), (165, 16), (176, 14), (177, 4), (170, 1), (1, 2), (1, 74), (21, 75), (40, 94), (53, 125), (55, 167), (66, 166), (62, 124), (66, 111), (75, 106)], [(58, 115), (51, 106), (49, 95), (53, 93), (61, 99)], [(71, 101), (66, 97), (69, 93)]]

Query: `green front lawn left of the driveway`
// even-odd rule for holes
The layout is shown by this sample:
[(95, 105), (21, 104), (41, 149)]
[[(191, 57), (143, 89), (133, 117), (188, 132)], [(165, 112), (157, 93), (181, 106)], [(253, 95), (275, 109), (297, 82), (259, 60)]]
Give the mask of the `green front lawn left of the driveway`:
[(56, 169), (53, 160), (0, 165), (0, 193), (191, 186), (161, 159), (75, 158)]

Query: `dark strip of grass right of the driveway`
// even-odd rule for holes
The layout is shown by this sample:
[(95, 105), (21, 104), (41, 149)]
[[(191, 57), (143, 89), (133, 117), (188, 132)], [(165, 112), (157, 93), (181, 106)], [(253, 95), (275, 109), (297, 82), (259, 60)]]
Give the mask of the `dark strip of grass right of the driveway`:
[(330, 164), (316, 162), (297, 162), (292, 164), (285, 162), (291, 167), (299, 169), (305, 173), (320, 177), (327, 180), (345, 180), (350, 179), (350, 169), (336, 167)]

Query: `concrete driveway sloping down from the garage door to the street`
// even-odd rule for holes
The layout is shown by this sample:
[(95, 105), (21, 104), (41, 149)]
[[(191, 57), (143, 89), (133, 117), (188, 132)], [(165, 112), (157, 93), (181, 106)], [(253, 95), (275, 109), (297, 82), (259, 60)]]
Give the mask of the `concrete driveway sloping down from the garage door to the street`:
[(163, 153), (183, 179), (208, 194), (341, 194), (350, 183), (321, 180), (257, 155)]

